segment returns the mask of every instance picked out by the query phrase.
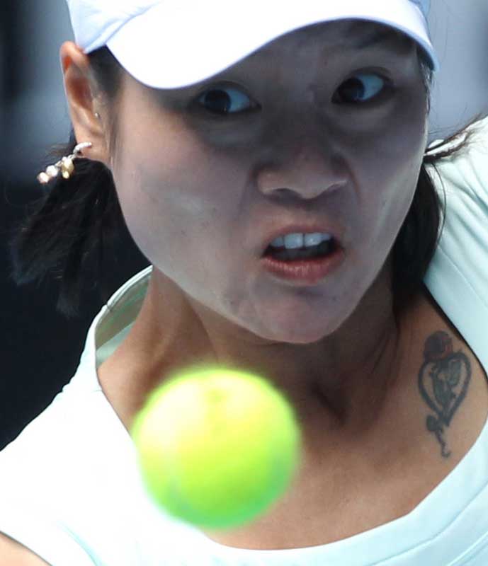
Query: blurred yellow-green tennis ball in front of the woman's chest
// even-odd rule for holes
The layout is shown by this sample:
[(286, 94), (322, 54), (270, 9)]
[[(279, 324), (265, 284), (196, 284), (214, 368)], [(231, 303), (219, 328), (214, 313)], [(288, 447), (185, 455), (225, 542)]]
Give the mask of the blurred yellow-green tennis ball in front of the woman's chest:
[(152, 499), (209, 529), (265, 514), (300, 463), (301, 432), (288, 400), (266, 379), (222, 367), (165, 381), (131, 435)]

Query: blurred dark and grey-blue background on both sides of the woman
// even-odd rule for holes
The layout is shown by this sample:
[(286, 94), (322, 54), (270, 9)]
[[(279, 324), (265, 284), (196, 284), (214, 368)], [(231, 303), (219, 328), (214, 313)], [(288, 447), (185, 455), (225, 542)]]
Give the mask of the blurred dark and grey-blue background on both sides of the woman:
[[(433, 0), (429, 18), (443, 66), (433, 89), (431, 140), (488, 114), (488, 3)], [(55, 311), (57, 283), (16, 287), (8, 241), (40, 197), (35, 176), (52, 144), (69, 137), (59, 47), (72, 39), (64, 0), (4, 0), (0, 7), (0, 449), (47, 407), (74, 374), (86, 331), (103, 301), (86, 272), (81, 313)], [(115, 291), (147, 265), (130, 236), (111, 258)]]

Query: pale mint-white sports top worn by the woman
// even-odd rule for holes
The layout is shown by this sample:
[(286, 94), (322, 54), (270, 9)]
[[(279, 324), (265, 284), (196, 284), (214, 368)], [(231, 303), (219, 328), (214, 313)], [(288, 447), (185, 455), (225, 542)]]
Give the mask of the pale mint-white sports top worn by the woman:
[[(470, 154), (439, 167), (446, 225), (425, 282), (488, 372), (488, 119), (480, 125)], [(411, 513), (343, 541), (293, 550), (230, 548), (157, 509), (144, 492), (130, 435), (96, 374), (137, 316), (150, 271), (113, 296), (91, 325), (72, 381), (0, 451), (1, 532), (52, 566), (488, 564), (488, 422)]]

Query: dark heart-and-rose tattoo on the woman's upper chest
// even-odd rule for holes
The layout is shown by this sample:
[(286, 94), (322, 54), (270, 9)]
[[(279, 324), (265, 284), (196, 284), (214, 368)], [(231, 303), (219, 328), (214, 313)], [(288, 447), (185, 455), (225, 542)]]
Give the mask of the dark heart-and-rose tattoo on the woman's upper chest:
[(426, 426), (441, 444), (441, 455), (448, 458), (444, 427), (448, 427), (454, 413), (467, 393), (471, 379), (470, 360), (463, 352), (453, 352), (453, 340), (448, 333), (431, 334), (424, 347), (424, 364), (419, 371), (419, 389), (422, 397), (437, 417), (429, 415)]

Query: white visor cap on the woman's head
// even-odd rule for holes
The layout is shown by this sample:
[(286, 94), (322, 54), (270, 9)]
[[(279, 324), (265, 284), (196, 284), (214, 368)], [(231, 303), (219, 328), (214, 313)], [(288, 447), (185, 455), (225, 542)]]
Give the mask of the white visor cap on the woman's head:
[(307, 25), (361, 19), (409, 35), (440, 68), (429, 37), (430, 0), (67, 0), (75, 42), (106, 45), (124, 69), (154, 88), (209, 79), (281, 35)]

